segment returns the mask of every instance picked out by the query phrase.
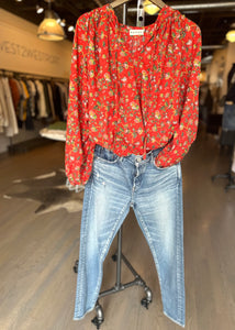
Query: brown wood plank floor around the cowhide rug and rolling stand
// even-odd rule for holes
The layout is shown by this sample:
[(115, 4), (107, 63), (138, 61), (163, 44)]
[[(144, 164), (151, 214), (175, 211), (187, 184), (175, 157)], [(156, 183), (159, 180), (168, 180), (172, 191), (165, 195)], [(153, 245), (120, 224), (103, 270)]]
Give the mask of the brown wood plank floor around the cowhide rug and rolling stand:
[[(35, 213), (40, 202), (5, 198), (13, 182), (64, 167), (64, 144), (53, 143), (0, 161), (0, 329), (90, 330), (94, 311), (74, 321), (81, 211), (61, 208)], [(235, 329), (235, 190), (225, 193), (228, 151), (200, 128), (182, 162), (184, 207), (186, 329)], [(80, 193), (81, 195), (83, 193)], [(82, 197), (82, 196), (81, 196)], [(152, 288), (154, 300), (141, 306), (143, 288), (133, 287), (100, 299), (103, 330), (182, 329), (163, 314), (157, 272), (133, 211), (123, 232), (123, 253)], [(102, 289), (113, 286), (111, 255), (103, 267)], [(123, 266), (123, 282), (132, 275)]]

